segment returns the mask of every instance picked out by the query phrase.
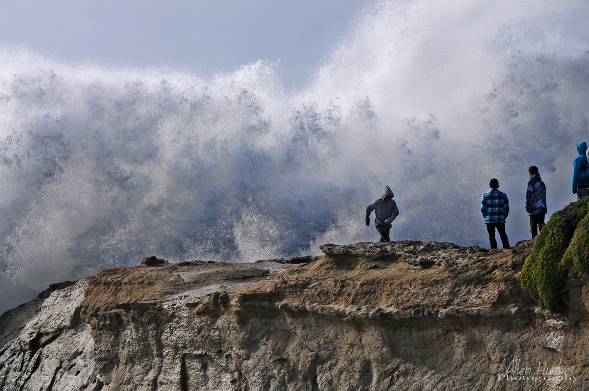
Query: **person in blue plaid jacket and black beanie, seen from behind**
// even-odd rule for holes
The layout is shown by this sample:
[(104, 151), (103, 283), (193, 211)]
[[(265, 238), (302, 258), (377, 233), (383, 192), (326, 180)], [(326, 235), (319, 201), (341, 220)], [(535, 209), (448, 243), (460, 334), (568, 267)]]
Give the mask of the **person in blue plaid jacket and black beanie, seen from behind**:
[(491, 191), (485, 193), (481, 200), (481, 213), (487, 224), (489, 242), (491, 242), (491, 248), (497, 248), (497, 240), (495, 240), (495, 228), (497, 228), (503, 248), (508, 248), (509, 239), (505, 233), (505, 218), (509, 214), (509, 200), (507, 194), (497, 190), (499, 187), (497, 179), (493, 178), (489, 182), (489, 187)]

